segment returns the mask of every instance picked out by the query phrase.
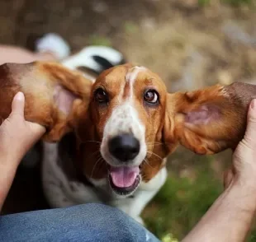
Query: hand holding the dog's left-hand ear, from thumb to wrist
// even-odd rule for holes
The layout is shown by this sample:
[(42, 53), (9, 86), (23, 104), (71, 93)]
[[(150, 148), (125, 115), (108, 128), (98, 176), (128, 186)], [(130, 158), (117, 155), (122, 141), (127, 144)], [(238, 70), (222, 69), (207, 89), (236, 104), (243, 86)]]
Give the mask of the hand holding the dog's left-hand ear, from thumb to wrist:
[(45, 133), (40, 124), (24, 119), (25, 97), (18, 92), (12, 100), (12, 113), (0, 126), (0, 162), (16, 161), (18, 165), (26, 152)]

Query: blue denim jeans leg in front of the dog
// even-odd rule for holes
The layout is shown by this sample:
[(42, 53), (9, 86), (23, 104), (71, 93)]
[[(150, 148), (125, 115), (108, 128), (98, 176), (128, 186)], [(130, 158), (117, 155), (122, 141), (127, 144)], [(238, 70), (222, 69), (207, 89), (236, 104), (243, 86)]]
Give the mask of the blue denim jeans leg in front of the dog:
[(102, 204), (0, 216), (0, 241), (159, 241), (117, 208)]

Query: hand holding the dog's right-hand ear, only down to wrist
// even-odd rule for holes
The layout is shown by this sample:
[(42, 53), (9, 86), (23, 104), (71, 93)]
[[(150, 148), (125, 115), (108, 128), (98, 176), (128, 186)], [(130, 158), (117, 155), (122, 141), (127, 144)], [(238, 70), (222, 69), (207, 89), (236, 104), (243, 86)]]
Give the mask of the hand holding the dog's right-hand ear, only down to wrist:
[(233, 167), (225, 172), (224, 185), (228, 187), (238, 180), (241, 184), (256, 187), (256, 100), (249, 105), (247, 128), (244, 138), (233, 154)]

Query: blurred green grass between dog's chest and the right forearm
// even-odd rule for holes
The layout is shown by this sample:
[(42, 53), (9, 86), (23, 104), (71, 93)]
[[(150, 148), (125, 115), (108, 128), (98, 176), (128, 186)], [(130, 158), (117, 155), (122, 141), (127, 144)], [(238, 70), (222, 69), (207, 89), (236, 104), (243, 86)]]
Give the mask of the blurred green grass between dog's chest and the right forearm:
[[(171, 174), (154, 201), (145, 209), (145, 224), (164, 242), (180, 241), (207, 212), (222, 190), (222, 183), (207, 165), (197, 169), (197, 179), (193, 182)], [(253, 230), (248, 241), (256, 241), (256, 230)]]

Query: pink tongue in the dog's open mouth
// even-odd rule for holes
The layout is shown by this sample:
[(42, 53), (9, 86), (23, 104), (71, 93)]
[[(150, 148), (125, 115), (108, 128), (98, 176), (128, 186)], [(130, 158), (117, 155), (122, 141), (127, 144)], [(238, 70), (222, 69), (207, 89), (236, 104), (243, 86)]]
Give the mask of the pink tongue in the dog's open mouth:
[(110, 175), (113, 184), (118, 188), (128, 188), (135, 183), (140, 174), (139, 166), (135, 167), (111, 167)]

